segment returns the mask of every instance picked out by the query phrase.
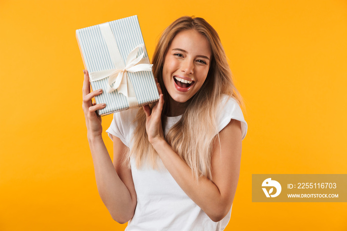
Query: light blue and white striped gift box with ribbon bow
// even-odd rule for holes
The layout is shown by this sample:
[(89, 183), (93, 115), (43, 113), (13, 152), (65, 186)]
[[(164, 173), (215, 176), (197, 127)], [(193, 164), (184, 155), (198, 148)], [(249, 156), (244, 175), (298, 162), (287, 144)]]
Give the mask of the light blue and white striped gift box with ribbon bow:
[(105, 116), (159, 100), (137, 16), (76, 30), (76, 38), (98, 110)]

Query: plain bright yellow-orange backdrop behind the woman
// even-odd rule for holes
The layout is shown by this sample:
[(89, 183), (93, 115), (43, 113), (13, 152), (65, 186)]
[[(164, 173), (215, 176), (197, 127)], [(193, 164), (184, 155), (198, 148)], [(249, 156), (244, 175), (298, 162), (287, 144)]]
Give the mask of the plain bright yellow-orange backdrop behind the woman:
[(347, 230), (346, 203), (251, 202), (252, 173), (347, 173), (346, 0), (0, 0), (0, 231), (125, 228), (97, 192), (75, 30), (135, 14), (150, 58), (179, 16), (219, 32), (249, 127), (226, 230)]

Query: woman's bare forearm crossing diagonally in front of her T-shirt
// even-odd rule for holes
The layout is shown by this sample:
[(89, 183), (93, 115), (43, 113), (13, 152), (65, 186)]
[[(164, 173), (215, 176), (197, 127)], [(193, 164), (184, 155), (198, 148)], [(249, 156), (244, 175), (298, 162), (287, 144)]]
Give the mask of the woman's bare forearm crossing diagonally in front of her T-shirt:
[(189, 166), (165, 140), (154, 143), (153, 147), (178, 185), (211, 220), (223, 219), (231, 208), (233, 196), (230, 198), (230, 193), (221, 192), (217, 185), (205, 176), (197, 180)]

